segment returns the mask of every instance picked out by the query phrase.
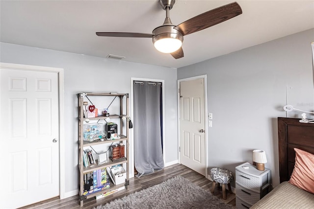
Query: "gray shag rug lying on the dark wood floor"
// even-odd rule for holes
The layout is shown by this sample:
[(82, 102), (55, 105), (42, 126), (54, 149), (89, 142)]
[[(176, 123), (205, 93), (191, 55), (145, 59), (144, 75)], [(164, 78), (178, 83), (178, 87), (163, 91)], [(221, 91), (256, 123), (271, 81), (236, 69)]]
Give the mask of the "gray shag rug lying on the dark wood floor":
[(232, 209), (210, 192), (181, 176), (94, 209)]

